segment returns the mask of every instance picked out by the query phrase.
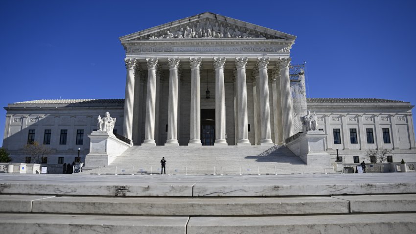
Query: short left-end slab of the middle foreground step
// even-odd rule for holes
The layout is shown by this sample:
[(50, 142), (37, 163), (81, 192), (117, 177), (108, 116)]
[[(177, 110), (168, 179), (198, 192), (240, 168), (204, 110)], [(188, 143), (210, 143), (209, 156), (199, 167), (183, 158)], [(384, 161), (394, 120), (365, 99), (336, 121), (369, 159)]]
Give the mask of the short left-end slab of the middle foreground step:
[(0, 195), (0, 212), (32, 212), (32, 202), (54, 196)]

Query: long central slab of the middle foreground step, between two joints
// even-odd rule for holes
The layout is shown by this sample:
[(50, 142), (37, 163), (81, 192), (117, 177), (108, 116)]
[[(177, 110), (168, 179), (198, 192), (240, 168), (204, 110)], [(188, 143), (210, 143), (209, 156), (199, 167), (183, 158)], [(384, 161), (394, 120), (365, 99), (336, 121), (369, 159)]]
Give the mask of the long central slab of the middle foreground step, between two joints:
[(277, 215), (348, 213), (348, 201), (296, 198), (54, 197), (33, 202), (33, 212), (135, 215)]

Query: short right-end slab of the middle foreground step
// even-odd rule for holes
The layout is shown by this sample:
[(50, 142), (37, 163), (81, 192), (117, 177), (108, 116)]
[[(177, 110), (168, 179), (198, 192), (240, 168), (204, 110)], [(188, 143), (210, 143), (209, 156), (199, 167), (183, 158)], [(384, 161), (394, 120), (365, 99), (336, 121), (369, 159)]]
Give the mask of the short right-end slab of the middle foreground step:
[(416, 212), (416, 194), (334, 196), (349, 201), (351, 213)]

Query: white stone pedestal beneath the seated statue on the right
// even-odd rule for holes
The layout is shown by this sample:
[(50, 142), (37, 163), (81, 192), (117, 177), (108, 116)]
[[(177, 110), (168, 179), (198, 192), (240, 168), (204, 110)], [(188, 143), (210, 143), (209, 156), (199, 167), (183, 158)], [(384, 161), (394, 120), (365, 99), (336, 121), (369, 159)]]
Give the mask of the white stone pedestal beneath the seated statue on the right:
[(329, 166), (331, 162), (324, 145), (326, 135), (322, 131), (307, 131), (302, 133), (299, 138), (287, 143), (286, 147), (307, 165)]

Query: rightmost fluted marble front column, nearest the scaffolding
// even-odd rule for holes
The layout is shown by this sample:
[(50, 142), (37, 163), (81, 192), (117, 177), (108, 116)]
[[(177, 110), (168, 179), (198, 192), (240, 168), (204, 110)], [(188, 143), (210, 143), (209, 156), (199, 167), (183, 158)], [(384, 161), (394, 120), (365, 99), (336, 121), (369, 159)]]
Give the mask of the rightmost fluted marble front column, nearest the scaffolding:
[(290, 93), (290, 76), (289, 76), (289, 64), (290, 58), (280, 59), (280, 91), (281, 91), (281, 103), (282, 103), (282, 130), (283, 140), (288, 139), (293, 135), (293, 101), (292, 94)]

